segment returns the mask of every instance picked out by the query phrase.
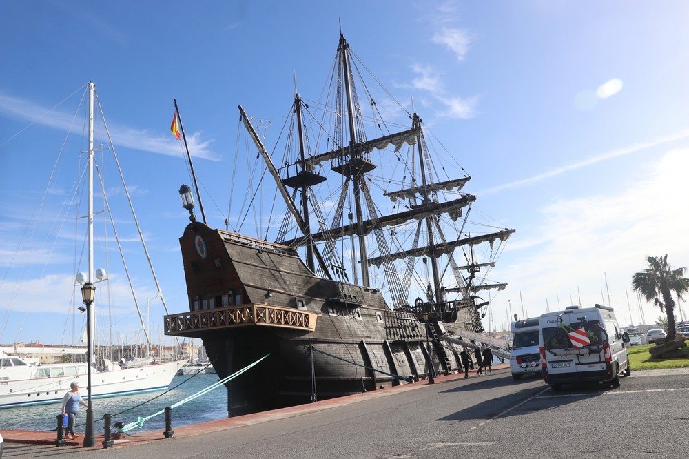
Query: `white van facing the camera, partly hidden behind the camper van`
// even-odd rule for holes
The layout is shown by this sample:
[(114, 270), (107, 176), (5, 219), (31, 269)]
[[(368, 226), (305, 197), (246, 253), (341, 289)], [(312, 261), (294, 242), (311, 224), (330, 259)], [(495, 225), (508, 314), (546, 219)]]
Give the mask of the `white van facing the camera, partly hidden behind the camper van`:
[(515, 320), (512, 323), (512, 349), (510, 350), (510, 371), (517, 381), (525, 374), (539, 374), (541, 354), (538, 332), (540, 317)]

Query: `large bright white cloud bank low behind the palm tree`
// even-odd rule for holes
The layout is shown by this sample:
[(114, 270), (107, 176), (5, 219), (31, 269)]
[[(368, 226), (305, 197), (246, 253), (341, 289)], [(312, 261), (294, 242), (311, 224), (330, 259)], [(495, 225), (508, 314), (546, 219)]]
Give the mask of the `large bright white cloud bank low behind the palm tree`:
[[(581, 294), (584, 305), (611, 303), (624, 319), (633, 308), (638, 323), (630, 278), (646, 267), (646, 256), (668, 254), (673, 265), (689, 265), (689, 240), (684, 237), (689, 217), (678, 212), (686, 202), (683, 171), (689, 168), (689, 150), (668, 151), (650, 164), (655, 168), (647, 179), (622, 192), (563, 198), (541, 210), (542, 221), (527, 236), (530, 242), (517, 247), (523, 255), (505, 268), (511, 295), (515, 288), (522, 291), (528, 314), (545, 312), (546, 299), (551, 310), (558, 307), (558, 298), (563, 308), (579, 304)], [(646, 323), (660, 315), (650, 305), (644, 311)]]

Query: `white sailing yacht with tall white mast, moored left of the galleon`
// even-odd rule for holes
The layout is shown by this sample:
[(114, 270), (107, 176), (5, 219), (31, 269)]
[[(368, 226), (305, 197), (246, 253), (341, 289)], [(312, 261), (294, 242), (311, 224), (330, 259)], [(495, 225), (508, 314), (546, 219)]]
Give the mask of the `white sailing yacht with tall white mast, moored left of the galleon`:
[[(94, 99), (95, 85), (88, 83), (88, 272), (76, 275), (76, 286), (105, 281), (103, 269), (94, 270)], [(94, 306), (83, 308), (91, 314), (90, 334), (95, 337)], [(141, 313), (139, 314), (141, 317)], [(144, 327), (145, 330), (145, 327)], [(150, 346), (149, 346), (150, 347)], [(167, 389), (177, 371), (186, 360), (157, 363), (152, 358), (132, 360), (128, 365), (114, 364), (107, 358), (105, 365), (97, 365), (92, 347), (88, 349), (84, 363), (54, 363), (34, 365), (19, 356), (0, 354), (0, 408), (22, 407), (61, 402), (74, 381), (85, 393), (88, 390), (88, 365), (91, 366), (94, 398), (140, 394)], [(125, 362), (123, 362), (124, 364)]]

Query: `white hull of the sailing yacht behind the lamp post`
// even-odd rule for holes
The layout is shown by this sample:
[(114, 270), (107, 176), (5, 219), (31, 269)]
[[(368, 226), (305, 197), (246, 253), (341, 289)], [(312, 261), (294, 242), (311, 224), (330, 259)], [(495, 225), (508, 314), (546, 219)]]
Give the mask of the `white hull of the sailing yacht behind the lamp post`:
[[(184, 364), (185, 360), (176, 360), (114, 371), (92, 369), (92, 396), (104, 398), (167, 389), (172, 378)], [(88, 391), (86, 366), (81, 364), (76, 367), (76, 365), (78, 364), (27, 365), (0, 369), (0, 409), (62, 402), (63, 396), (70, 390), (72, 381), (79, 383), (81, 395), (86, 399)], [(79, 368), (81, 371), (72, 375), (65, 374), (65, 376), (34, 377), (38, 370), (52, 371), (59, 368)]]

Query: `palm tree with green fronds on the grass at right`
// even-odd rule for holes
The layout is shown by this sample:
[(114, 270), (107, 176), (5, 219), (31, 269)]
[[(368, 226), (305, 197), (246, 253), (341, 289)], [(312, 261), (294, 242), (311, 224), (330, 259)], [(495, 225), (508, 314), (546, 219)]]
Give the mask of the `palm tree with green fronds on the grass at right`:
[[(660, 307), (661, 311), (668, 314), (668, 340), (674, 340), (677, 332), (675, 326), (675, 300), (672, 300), (672, 292), (681, 300), (682, 294), (689, 290), (689, 279), (685, 279), (686, 268), (675, 268), (668, 263), (668, 255), (649, 256), (646, 258), (648, 267), (642, 272), (632, 276), (632, 287), (635, 292), (643, 295), (647, 301)], [(662, 298), (662, 300), (661, 300)]]

